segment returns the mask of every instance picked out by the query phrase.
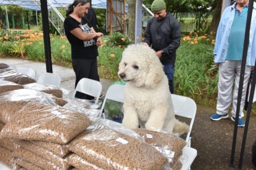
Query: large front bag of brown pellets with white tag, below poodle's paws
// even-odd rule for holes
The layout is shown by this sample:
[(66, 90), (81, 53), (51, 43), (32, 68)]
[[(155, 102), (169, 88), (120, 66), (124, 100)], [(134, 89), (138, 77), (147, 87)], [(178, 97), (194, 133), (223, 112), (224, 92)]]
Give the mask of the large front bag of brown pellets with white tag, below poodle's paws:
[(69, 150), (105, 169), (156, 170), (167, 163), (155, 148), (109, 128), (84, 131)]

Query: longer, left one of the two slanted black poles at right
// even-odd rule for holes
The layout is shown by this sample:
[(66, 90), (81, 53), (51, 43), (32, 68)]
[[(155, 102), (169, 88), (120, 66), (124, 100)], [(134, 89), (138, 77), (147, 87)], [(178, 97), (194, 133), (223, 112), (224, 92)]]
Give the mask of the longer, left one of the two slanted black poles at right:
[[(242, 64), (241, 64), (240, 82), (239, 82), (238, 96), (237, 96), (236, 121), (235, 121), (235, 125), (234, 125), (232, 151), (231, 151), (230, 163), (229, 163), (230, 167), (234, 167), (234, 154), (235, 154), (235, 150), (236, 150), (237, 129), (238, 129), (237, 125), (238, 125), (238, 118), (239, 118), (239, 114), (240, 114), (240, 105), (241, 105), (241, 99), (242, 99), (243, 79), (245, 76), (245, 65), (246, 65), (247, 50), (248, 50), (248, 46), (249, 46), (249, 36), (250, 36), (252, 12), (253, 12), (253, 0), (249, 0), (249, 9), (248, 9), (248, 13), (247, 13), (247, 20), (246, 20), (246, 27), (245, 27), (245, 41), (243, 42), (243, 56), (242, 56)], [(249, 107), (250, 107), (250, 105), (249, 105)], [(246, 118), (246, 122), (247, 122), (247, 118)], [(247, 129), (248, 129), (248, 127), (247, 127)], [(247, 135), (247, 129), (246, 129), (246, 134), (244, 134), (244, 135)], [(245, 140), (246, 140), (246, 137), (245, 137)], [(243, 148), (243, 150), (244, 150), (244, 148)], [(243, 150), (242, 150), (242, 156), (243, 156)]]

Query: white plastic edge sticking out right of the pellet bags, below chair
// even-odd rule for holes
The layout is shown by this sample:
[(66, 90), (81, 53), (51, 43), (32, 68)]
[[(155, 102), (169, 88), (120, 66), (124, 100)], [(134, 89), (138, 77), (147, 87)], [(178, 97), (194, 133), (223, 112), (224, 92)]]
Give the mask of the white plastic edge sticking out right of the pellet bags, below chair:
[(185, 162), (182, 165), (181, 170), (187, 170), (190, 169), (191, 164), (196, 158), (197, 150), (191, 147), (184, 147), (183, 148), (183, 155), (186, 156)]

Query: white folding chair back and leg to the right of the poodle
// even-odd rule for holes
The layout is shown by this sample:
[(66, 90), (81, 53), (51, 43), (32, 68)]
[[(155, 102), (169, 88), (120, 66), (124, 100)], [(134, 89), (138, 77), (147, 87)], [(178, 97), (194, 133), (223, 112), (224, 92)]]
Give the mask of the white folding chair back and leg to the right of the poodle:
[(193, 99), (185, 96), (172, 94), (175, 115), (190, 118), (189, 131), (186, 137), (187, 146), (191, 147), (191, 130), (196, 116), (196, 103)]

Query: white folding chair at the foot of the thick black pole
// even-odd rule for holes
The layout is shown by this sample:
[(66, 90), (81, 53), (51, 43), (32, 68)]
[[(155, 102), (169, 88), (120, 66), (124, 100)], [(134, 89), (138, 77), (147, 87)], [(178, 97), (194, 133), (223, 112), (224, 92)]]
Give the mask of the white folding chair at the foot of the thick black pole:
[(43, 73), (39, 75), (38, 80), (36, 82), (60, 87), (61, 78), (59, 75), (54, 73)]

